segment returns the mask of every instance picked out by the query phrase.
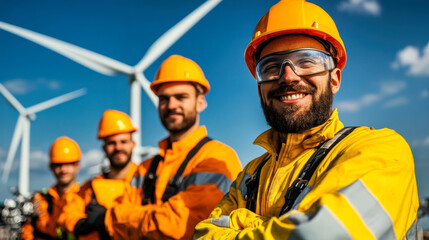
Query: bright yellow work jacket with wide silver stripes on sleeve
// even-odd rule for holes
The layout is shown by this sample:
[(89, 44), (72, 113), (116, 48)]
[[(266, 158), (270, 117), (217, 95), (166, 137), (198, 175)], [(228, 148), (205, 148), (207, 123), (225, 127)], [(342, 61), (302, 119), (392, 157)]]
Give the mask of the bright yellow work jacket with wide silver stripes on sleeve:
[(415, 239), (419, 199), (406, 141), (390, 129), (356, 128), (320, 163), (295, 207), (279, 216), (285, 193), (316, 146), (343, 128), (334, 110), (321, 126), (288, 134), (270, 129), (255, 144), (271, 158), (262, 168), (255, 213), (245, 209), (251, 161), (195, 239)]

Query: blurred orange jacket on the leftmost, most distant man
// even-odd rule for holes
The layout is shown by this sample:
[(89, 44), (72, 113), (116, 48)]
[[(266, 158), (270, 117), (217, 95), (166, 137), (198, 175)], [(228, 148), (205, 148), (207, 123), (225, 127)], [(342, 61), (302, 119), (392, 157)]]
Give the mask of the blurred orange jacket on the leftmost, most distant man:
[(58, 218), (67, 198), (79, 191), (79, 185), (74, 184), (65, 194), (60, 196), (56, 186), (47, 191), (36, 193), (33, 205), (37, 216), (22, 227), (22, 239), (66, 239), (66, 234), (58, 227)]

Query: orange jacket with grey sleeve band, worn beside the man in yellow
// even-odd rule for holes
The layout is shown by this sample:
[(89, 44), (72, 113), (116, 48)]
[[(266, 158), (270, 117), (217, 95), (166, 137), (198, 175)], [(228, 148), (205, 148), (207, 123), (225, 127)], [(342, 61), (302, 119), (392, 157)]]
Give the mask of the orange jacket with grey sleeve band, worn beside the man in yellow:
[[(201, 126), (170, 146), (168, 138), (159, 142), (159, 155), (163, 160), (156, 170), (155, 202), (142, 205), (142, 186), (153, 161), (151, 158), (139, 165), (123, 201), (110, 212), (113, 239), (191, 238), (195, 225), (208, 217), (241, 170), (235, 151), (211, 140), (186, 165), (179, 192), (163, 202), (162, 196), (170, 179), (190, 150), (206, 136), (206, 128)], [(108, 215), (109, 211), (106, 219)]]

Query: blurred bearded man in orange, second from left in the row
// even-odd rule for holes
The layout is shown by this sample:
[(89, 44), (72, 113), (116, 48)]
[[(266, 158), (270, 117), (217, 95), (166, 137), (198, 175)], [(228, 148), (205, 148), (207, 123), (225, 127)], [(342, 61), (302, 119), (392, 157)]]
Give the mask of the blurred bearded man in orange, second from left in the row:
[[(137, 165), (131, 160), (137, 131), (130, 117), (120, 111), (106, 110), (98, 125), (98, 139), (110, 162), (110, 170), (85, 182), (75, 198), (64, 207), (61, 224), (79, 239), (110, 238), (105, 224), (106, 210), (122, 196)], [(107, 222), (107, 225), (110, 225)]]

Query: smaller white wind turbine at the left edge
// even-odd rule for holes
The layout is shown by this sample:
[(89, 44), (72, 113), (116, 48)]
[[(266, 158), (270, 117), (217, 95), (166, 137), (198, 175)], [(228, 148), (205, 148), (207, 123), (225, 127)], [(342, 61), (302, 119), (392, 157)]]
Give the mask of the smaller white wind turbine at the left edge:
[(9, 172), (12, 167), (15, 153), (21, 140), (21, 161), (19, 167), (19, 192), (24, 195), (29, 194), (29, 176), (30, 176), (30, 120), (36, 119), (36, 113), (45, 109), (54, 107), (63, 102), (80, 97), (86, 93), (85, 89), (76, 90), (56, 98), (41, 102), (28, 108), (24, 108), (21, 103), (0, 83), (0, 93), (14, 107), (18, 113), (15, 132), (6, 158), (6, 164), (3, 169), (3, 183), (7, 182)]

